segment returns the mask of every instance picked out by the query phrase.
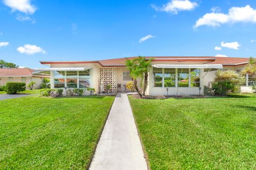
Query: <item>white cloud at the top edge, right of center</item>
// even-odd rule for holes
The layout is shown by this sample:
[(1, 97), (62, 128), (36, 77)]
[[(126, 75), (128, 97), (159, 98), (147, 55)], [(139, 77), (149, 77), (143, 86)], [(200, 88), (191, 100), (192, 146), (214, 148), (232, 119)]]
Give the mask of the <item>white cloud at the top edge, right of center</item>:
[(196, 2), (191, 2), (189, 0), (172, 0), (162, 7), (157, 7), (156, 5), (151, 5), (156, 11), (170, 12), (173, 14), (178, 14), (179, 11), (190, 11), (197, 6)]

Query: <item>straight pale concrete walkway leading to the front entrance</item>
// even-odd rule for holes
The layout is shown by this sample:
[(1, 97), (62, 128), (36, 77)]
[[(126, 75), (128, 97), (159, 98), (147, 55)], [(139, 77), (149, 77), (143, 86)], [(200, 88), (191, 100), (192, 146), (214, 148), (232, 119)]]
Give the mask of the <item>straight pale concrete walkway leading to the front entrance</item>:
[(90, 170), (146, 170), (147, 164), (126, 94), (117, 94)]

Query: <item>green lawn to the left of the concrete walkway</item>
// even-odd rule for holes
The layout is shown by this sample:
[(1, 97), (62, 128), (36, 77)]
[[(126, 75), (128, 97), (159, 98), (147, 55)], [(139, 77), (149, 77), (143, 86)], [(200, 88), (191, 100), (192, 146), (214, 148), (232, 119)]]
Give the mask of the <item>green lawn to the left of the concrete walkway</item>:
[(114, 97), (0, 101), (0, 169), (85, 169)]

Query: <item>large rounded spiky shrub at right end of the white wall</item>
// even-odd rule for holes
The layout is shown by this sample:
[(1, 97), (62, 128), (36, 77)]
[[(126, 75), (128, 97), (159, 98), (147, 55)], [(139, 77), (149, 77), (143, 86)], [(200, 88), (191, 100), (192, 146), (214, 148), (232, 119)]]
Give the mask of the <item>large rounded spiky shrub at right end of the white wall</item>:
[(218, 71), (212, 83), (215, 95), (225, 96), (228, 92), (239, 92), (244, 77), (233, 70)]

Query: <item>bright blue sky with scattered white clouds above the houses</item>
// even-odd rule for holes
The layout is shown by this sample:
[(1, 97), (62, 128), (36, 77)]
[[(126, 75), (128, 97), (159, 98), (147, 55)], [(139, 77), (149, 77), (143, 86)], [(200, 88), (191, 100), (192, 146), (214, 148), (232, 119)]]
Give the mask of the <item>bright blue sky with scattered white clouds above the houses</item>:
[(256, 1), (0, 0), (0, 60), (256, 56)]

